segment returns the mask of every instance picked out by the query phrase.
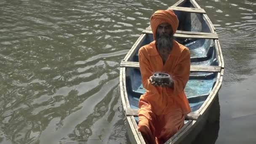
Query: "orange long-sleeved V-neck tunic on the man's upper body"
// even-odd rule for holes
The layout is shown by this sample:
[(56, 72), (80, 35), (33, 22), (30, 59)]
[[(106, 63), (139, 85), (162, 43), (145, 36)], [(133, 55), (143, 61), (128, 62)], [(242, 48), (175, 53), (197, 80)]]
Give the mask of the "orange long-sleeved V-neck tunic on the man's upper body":
[[(190, 53), (184, 45), (174, 41), (172, 51), (163, 65), (163, 61), (155, 41), (139, 49), (139, 65), (142, 77), (142, 85), (146, 93), (141, 95), (141, 101), (148, 101), (150, 108), (157, 115), (163, 115), (177, 107), (181, 108), (184, 115), (191, 109), (184, 93), (184, 88), (189, 80), (190, 73)], [(149, 82), (149, 77), (155, 72), (165, 72), (171, 75), (174, 88), (155, 87)]]

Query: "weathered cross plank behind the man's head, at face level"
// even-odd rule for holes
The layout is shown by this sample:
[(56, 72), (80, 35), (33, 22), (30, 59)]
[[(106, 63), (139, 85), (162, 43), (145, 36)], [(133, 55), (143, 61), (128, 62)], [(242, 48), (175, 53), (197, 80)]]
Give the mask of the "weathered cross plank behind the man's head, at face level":
[[(144, 30), (142, 31), (143, 33), (146, 34), (152, 34), (152, 30)], [(175, 33), (174, 37), (181, 37), (181, 38), (203, 38), (203, 39), (218, 39), (218, 35), (217, 34), (207, 34), (207, 35), (191, 35), (191, 34), (179, 34), (179, 33)]]

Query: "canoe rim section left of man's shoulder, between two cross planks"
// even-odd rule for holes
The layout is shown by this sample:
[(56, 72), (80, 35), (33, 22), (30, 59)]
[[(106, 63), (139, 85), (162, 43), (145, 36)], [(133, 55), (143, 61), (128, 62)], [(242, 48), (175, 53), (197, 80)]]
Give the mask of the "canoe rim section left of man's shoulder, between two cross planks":
[(134, 53), (136, 52), (137, 48), (141, 45), (141, 43), (143, 43), (143, 41), (146, 38), (146, 34), (142, 34), (137, 41), (133, 44), (133, 46), (131, 47), (130, 51), (128, 51), (128, 53), (126, 54), (124, 61), (129, 61), (132, 56), (134, 55)]

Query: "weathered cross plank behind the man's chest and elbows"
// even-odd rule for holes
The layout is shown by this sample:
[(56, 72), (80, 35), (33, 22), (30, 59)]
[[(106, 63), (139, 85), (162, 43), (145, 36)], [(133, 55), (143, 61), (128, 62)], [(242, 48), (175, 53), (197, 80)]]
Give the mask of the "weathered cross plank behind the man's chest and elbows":
[[(133, 61), (121, 61), (120, 67), (134, 67), (139, 68), (139, 62)], [(203, 65), (191, 65), (190, 72), (220, 72), (219, 66), (203, 66)]]

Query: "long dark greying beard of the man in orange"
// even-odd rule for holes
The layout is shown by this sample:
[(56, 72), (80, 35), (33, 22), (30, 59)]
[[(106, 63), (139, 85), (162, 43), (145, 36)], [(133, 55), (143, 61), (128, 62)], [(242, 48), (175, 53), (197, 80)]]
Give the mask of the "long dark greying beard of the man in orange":
[(161, 49), (168, 49), (171, 50), (173, 47), (173, 34), (168, 34), (168, 33), (163, 33), (162, 35), (159, 35), (157, 33), (156, 35), (157, 40), (156, 40), (156, 46), (158, 50)]

